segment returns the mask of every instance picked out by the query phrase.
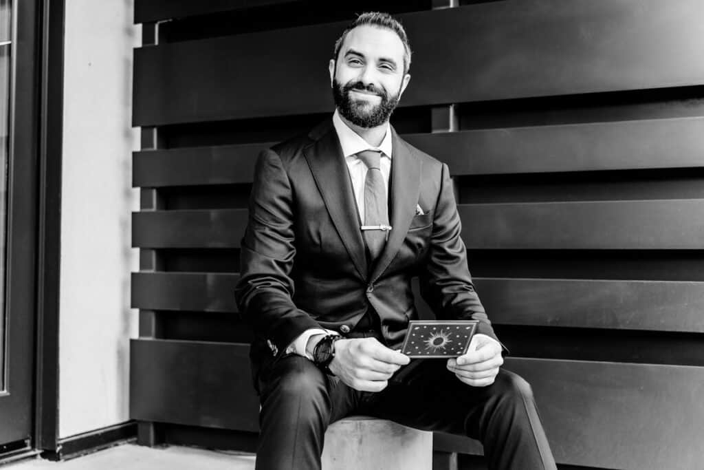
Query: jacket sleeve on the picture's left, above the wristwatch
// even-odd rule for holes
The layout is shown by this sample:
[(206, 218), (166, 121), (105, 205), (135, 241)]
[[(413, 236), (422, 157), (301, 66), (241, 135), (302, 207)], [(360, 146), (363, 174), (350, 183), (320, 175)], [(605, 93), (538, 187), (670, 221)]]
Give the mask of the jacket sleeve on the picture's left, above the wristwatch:
[(254, 170), (234, 296), (240, 316), (255, 335), (270, 340), (279, 351), (309, 328), (320, 328), (292, 300), (295, 255), (291, 184), (279, 155), (265, 150)]

